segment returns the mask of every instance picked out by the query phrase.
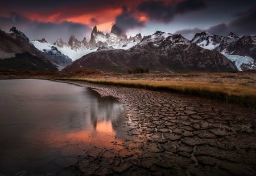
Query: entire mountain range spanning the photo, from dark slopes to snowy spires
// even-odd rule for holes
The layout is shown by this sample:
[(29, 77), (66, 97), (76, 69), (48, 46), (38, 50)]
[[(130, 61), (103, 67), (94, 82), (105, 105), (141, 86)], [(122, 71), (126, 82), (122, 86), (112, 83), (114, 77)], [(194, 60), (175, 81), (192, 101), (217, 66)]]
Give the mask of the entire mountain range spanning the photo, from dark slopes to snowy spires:
[(128, 38), (117, 25), (106, 34), (95, 26), (89, 41), (71, 36), (68, 42), (59, 38), (53, 44), (44, 38), (30, 41), (16, 28), (8, 33), (0, 31), (0, 35), (0, 68), (98, 68), (117, 72), (138, 67), (170, 72), (256, 70), (256, 37), (238, 37), (234, 33), (218, 36), (201, 32), (187, 40), (181, 35), (157, 31), (150, 36), (138, 34)]

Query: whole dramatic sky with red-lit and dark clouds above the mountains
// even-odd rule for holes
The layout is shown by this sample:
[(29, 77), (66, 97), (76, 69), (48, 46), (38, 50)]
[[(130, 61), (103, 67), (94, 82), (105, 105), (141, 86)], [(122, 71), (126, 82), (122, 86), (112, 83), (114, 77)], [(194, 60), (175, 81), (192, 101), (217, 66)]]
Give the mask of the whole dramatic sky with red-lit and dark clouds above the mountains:
[(118, 25), (127, 36), (156, 31), (191, 39), (209, 31), (256, 35), (256, 0), (0, 0), (0, 29), (16, 27), (30, 40), (71, 35), (89, 41), (94, 25), (104, 33)]

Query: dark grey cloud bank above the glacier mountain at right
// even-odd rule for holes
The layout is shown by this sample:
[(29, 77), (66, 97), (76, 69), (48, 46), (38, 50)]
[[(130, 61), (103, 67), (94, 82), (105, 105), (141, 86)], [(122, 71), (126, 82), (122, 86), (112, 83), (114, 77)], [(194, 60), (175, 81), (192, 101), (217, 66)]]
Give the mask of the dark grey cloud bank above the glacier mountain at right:
[(221, 23), (214, 25), (208, 29), (183, 29), (176, 31), (184, 37), (192, 38), (197, 32), (208, 31), (216, 35), (227, 36), (230, 32), (236, 33), (238, 36), (242, 35), (256, 35), (256, 6), (249, 11), (237, 15), (237, 18), (232, 20), (229, 24)]

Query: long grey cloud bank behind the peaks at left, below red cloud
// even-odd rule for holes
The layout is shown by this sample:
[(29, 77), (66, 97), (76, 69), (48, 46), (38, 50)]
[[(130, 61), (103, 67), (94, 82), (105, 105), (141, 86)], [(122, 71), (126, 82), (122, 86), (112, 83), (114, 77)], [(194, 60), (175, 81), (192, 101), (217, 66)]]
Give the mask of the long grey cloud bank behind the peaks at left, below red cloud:
[(24, 32), (30, 40), (46, 38), (49, 42), (54, 42), (57, 38), (62, 38), (64, 41), (68, 41), (71, 35), (75, 35), (78, 39), (82, 39), (85, 36), (89, 36), (91, 28), (84, 24), (62, 22), (38, 22), (27, 19), (21, 15), (13, 14), (10, 18), (0, 16), (0, 26), (4, 31), (15, 26), (19, 31)]

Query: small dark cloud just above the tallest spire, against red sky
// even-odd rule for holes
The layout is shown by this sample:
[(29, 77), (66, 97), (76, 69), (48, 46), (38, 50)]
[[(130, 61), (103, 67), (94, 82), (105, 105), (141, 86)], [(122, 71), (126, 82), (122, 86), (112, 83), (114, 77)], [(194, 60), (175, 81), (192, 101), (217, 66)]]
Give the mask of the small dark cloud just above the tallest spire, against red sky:
[(140, 22), (133, 17), (134, 11), (128, 11), (126, 6), (123, 6), (122, 13), (115, 19), (115, 24), (123, 31), (137, 27), (143, 27), (144, 22)]

